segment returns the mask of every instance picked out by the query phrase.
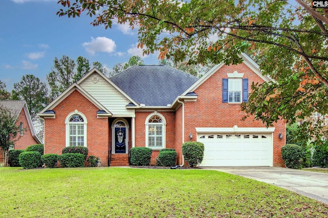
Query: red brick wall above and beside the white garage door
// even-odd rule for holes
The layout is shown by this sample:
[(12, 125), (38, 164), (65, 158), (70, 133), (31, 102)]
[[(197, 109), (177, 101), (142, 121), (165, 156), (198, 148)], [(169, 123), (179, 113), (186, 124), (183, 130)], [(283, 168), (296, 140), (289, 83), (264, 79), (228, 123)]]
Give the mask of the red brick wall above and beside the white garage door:
[[(260, 120), (253, 121), (253, 117), (242, 121), (245, 115), (240, 110), (240, 104), (222, 103), (222, 79), (228, 78), (227, 73), (234, 71), (243, 73), (243, 78), (249, 79), (249, 92), (251, 84), (254, 81), (262, 83), (263, 80), (258, 77), (247, 65), (238, 64), (231, 66), (222, 66), (212, 77), (204, 81), (194, 92), (198, 95), (196, 102), (185, 103), (185, 141), (189, 140), (189, 132), (194, 135), (196, 140), (195, 127), (264, 127)], [(280, 149), (285, 144), (285, 124), (280, 121), (275, 124), (274, 140), (274, 159), (273, 165), (283, 165)], [(188, 134), (187, 134), (188, 133)], [(278, 133), (282, 133), (284, 139), (278, 139)]]

